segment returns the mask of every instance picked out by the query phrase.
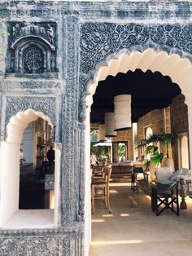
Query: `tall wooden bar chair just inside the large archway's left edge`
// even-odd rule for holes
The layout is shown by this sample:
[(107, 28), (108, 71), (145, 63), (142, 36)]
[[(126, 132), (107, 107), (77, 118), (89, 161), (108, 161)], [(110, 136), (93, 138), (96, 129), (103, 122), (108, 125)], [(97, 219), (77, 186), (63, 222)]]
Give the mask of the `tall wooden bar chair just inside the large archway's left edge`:
[(111, 206), (109, 201), (109, 182), (111, 177), (111, 167), (104, 167), (104, 179), (92, 179), (91, 183), (91, 200), (92, 200), (92, 214), (94, 214), (94, 200), (103, 199), (106, 208), (111, 214)]

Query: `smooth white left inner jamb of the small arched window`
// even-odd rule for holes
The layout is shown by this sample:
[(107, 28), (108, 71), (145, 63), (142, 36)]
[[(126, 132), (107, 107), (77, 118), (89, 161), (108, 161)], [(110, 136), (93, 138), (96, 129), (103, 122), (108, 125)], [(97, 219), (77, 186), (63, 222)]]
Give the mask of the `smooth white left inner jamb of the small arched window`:
[(19, 209), (20, 143), (1, 143), (0, 227)]

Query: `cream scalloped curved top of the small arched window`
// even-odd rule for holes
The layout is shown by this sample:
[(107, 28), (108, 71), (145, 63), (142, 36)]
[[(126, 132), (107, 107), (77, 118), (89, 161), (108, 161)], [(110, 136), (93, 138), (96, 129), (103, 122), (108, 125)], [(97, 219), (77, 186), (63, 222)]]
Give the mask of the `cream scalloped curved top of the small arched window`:
[(34, 111), (31, 108), (23, 112), (18, 112), (15, 116), (10, 118), (9, 123), (7, 124), (7, 143), (21, 143), (24, 129), (32, 121), (36, 121), (38, 117), (41, 117), (48, 121), (50, 126), (52, 123), (50, 117), (44, 115), (39, 111)]

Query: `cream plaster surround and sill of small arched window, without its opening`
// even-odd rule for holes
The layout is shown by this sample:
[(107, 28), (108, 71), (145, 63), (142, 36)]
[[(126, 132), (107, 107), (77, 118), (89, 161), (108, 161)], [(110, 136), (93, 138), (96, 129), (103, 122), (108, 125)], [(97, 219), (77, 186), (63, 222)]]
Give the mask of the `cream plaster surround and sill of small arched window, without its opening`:
[[(11, 117), (7, 124), (7, 139), (1, 142), (0, 155), (0, 228), (47, 228), (58, 223), (58, 187), (60, 150), (55, 148), (55, 209), (20, 210), (20, 145), (28, 124), (41, 117), (52, 126), (50, 117), (28, 109)], [(35, 135), (34, 135), (35, 136)], [(38, 198), (37, 198), (38, 200)]]

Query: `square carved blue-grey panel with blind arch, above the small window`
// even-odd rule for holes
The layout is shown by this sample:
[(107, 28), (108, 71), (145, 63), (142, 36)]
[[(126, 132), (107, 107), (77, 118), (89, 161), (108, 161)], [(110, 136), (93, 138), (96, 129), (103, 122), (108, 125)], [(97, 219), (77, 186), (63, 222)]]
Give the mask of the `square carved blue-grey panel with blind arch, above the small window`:
[(53, 22), (11, 22), (7, 73), (28, 76), (56, 72), (56, 29)]

